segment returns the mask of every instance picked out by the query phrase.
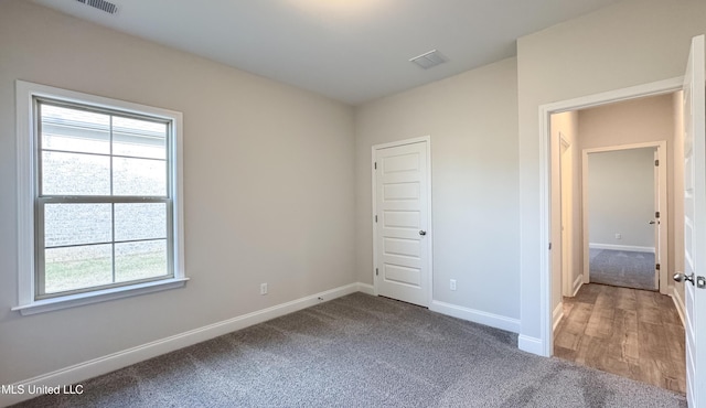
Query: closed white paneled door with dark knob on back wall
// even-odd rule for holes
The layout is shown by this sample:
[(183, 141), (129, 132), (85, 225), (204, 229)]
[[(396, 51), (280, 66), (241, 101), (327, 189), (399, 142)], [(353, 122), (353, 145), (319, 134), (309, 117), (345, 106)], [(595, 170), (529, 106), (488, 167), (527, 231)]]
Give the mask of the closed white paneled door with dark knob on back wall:
[(429, 305), (429, 142), (374, 148), (375, 289)]

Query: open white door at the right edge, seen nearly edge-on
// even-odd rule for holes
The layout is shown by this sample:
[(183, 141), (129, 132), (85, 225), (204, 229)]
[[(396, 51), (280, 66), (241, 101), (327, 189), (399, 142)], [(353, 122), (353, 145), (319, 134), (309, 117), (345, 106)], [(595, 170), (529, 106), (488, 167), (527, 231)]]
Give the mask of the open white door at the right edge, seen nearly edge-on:
[(705, 68), (700, 35), (692, 40), (684, 76), (684, 275), (688, 280), (684, 294), (686, 396), (691, 407), (706, 406), (706, 290), (697, 284), (706, 276)]

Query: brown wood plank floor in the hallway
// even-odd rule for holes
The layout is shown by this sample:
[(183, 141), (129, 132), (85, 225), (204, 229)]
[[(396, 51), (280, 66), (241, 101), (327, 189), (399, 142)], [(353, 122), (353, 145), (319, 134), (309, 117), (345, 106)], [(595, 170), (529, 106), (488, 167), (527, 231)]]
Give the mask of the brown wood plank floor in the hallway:
[(684, 326), (672, 299), (659, 292), (584, 284), (564, 298), (554, 355), (686, 393)]

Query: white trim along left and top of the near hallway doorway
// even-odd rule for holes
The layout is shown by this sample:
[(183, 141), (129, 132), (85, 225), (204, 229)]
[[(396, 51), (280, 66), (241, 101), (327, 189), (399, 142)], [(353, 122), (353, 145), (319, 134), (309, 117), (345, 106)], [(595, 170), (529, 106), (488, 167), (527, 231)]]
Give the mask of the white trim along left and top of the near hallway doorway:
[(632, 86), (601, 94), (584, 96), (539, 106), (539, 319), (542, 355), (550, 356), (554, 350), (552, 332), (552, 253), (550, 244), (550, 116), (564, 111), (590, 108), (599, 105), (637, 99), (645, 96), (670, 94), (681, 90), (683, 77)]

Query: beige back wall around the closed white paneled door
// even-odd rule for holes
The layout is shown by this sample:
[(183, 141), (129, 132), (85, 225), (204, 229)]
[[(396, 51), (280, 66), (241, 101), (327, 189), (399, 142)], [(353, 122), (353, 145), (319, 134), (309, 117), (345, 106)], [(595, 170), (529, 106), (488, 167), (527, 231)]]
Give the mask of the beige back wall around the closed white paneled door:
[[(515, 80), (516, 62), (510, 58), (357, 108), (360, 281), (373, 282), (371, 148), (429, 135), (434, 300), (462, 308), (470, 319), (482, 311), (516, 322)], [(457, 280), (457, 291), (449, 290), (449, 279)]]

